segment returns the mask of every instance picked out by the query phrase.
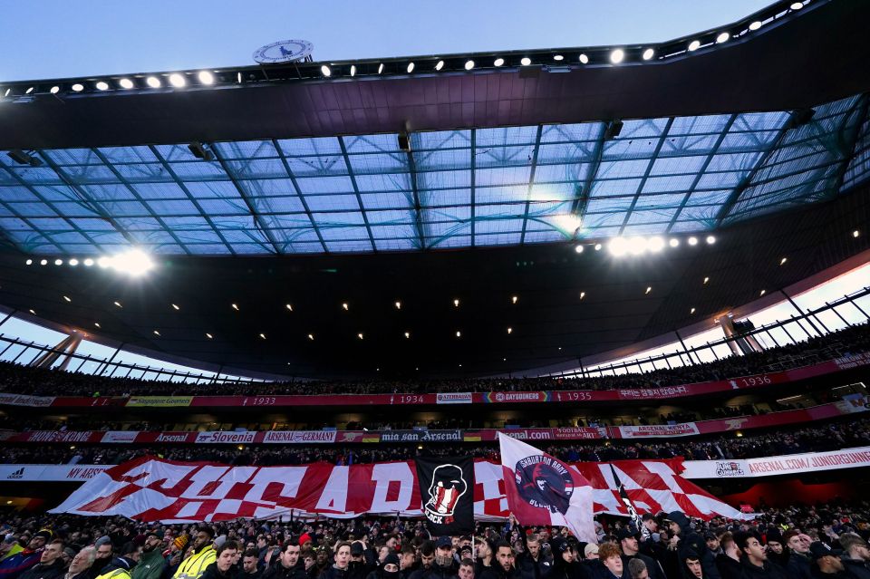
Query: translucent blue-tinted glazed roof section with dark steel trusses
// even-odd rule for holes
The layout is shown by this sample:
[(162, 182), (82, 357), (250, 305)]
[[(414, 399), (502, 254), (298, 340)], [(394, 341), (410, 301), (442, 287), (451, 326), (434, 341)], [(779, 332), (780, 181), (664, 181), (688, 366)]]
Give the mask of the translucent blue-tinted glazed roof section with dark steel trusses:
[[(801, 119), (800, 117), (804, 117)], [(700, 232), (836, 196), (867, 99), (612, 123), (48, 149), (0, 160), (0, 228), (28, 253), (251, 255)], [(848, 172), (843, 183), (847, 165)]]

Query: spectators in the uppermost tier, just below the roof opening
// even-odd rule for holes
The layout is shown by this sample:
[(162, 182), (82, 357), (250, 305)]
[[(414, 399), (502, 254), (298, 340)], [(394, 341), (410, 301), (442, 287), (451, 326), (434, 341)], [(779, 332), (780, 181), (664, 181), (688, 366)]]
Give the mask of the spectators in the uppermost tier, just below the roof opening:
[(577, 378), (453, 379), (413, 381), (290, 381), (194, 384), (98, 377), (0, 364), (0, 391), (36, 396), (131, 395), (281, 395), (426, 393), (444, 391), (614, 390), (650, 388), (748, 376), (817, 362), (849, 352), (870, 351), (867, 324), (715, 362), (698, 363), (653, 372)]

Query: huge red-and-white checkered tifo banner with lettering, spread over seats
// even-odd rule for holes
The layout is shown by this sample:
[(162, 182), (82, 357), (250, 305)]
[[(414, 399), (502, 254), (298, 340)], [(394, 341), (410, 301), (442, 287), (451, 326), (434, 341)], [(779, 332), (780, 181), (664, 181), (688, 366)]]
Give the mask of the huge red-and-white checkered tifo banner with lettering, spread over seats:
[[(745, 518), (701, 487), (681, 478), (681, 459), (613, 463), (629, 497), (642, 512), (681, 510), (689, 516)], [(594, 511), (627, 515), (611, 463), (571, 465), (593, 487)], [(474, 463), (474, 515), (506, 518), (501, 465)], [(296, 467), (230, 467), (139, 458), (96, 474), (53, 513), (127, 516), (141, 521), (221, 521), (237, 517), (349, 518), (365, 513), (422, 516), (414, 461), (350, 467), (318, 462)]]

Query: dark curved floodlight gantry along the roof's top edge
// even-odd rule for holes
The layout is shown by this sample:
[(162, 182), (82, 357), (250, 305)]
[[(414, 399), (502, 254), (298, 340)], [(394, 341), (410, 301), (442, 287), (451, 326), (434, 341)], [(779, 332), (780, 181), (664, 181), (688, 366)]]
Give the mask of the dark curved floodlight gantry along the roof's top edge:
[[(87, 92), (107, 91), (163, 91), (163, 90), (200, 90), (213, 85), (240, 84), (246, 82), (270, 82), (277, 79), (297, 80), (310, 78), (331, 78), (346, 74), (349, 77), (358, 75), (381, 75), (420, 73), (435, 74), (440, 72), (468, 72), (481, 66), (498, 68), (502, 66), (527, 67), (542, 66), (551, 72), (565, 72), (569, 67), (582, 66), (614, 66), (627, 63), (644, 63), (648, 61), (667, 61), (680, 58), (701, 49), (715, 49), (717, 45), (727, 43), (732, 38), (744, 38), (755, 33), (762, 27), (780, 22), (801, 10), (811, 0), (805, 2), (778, 2), (764, 10), (739, 21), (723, 26), (697, 37), (684, 37), (665, 43), (652, 45), (632, 45), (618, 47), (596, 47), (586, 49), (559, 49), (556, 51), (528, 51), (527, 53), (445, 55), (430, 57), (415, 57), (408, 60), (389, 59), (383, 61), (354, 61), (344, 63), (287, 63), (285, 68), (293, 73), (282, 78), (275, 71), (281, 70), (281, 64), (249, 68), (246, 70), (199, 70), (160, 72), (151, 74), (135, 74), (123, 76), (107, 76), (78, 80), (46, 81), (46, 82), (16, 82), (0, 88), (0, 98), (24, 99), (33, 95), (51, 94), (62, 97), (64, 94), (77, 95)], [(553, 63), (556, 63), (555, 65)]]

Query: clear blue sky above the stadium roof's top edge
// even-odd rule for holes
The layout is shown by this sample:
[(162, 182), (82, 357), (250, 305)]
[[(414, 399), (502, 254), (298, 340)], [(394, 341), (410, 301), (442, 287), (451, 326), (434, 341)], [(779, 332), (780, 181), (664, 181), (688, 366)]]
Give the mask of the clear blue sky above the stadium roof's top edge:
[(0, 82), (252, 64), (262, 44), (315, 60), (652, 43), (728, 24), (767, 0), (39, 0), (7, 2)]

